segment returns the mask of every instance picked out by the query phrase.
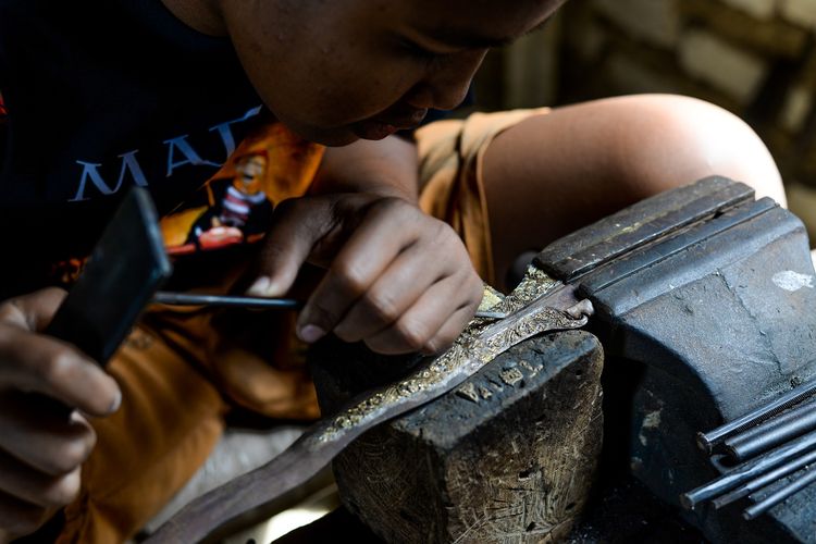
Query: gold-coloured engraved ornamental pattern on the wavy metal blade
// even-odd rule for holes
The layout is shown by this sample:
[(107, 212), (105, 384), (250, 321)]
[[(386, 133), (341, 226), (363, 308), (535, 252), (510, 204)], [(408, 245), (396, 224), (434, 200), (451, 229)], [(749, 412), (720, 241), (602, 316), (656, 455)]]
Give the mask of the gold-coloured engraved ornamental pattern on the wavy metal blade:
[[(529, 306), (560, 285), (541, 270), (530, 267), (521, 284), (506, 297), (485, 286), (484, 308), (480, 309), (510, 313)], [(474, 319), (447, 351), (424, 368), (327, 419), (312, 445), (318, 447), (320, 443), (339, 440), (349, 430), (371, 421), (395, 405), (416, 400), (418, 397), (433, 398), (434, 393), (447, 391), (449, 382), (457, 379), (461, 382), (465, 376), (473, 374), (497, 355), (526, 338), (544, 331), (577, 329), (585, 323), (586, 318), (576, 320), (560, 310), (546, 307), (522, 317), (512, 326), (491, 327), (492, 320)], [(490, 333), (491, 329), (497, 332)], [(484, 334), (485, 331), (489, 334)]]

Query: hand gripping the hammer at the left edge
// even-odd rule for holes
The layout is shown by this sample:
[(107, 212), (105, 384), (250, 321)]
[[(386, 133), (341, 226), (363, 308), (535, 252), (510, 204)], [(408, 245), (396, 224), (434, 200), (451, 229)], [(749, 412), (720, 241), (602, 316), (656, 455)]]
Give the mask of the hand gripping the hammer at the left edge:
[(79, 491), (96, 435), (51, 399), (90, 416), (120, 404), (116, 382), (94, 361), (38, 334), (64, 296), (51, 288), (0, 305), (0, 534), (34, 532)]

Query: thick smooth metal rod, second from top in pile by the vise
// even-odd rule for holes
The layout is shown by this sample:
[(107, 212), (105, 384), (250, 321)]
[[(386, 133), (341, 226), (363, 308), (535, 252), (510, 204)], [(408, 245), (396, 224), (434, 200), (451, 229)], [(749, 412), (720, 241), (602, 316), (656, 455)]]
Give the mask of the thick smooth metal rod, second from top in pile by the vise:
[(730, 457), (739, 462), (814, 429), (816, 400), (809, 400), (777, 418), (726, 438), (724, 444)]

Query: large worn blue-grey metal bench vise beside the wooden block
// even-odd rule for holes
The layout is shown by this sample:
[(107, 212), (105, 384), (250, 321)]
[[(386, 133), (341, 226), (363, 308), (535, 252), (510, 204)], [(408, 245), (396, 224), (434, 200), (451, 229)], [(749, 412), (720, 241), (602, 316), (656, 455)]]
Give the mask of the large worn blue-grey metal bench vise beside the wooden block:
[[(594, 304), (607, 436), (628, 436), (632, 473), (671, 505), (719, 474), (697, 432), (816, 380), (805, 227), (743, 184), (715, 177), (659, 195), (536, 263)], [(685, 517), (714, 542), (816, 542), (816, 486), (753, 521), (708, 505)]]

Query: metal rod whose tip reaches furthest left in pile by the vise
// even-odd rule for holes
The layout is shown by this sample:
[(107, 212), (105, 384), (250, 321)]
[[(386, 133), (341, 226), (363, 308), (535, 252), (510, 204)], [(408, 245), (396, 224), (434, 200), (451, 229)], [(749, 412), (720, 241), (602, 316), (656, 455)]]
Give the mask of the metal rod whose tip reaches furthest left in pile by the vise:
[(816, 431), (771, 449), (765, 455), (734, 467), (730, 472), (700, 487), (680, 495), (680, 504), (691, 510), (704, 500), (717, 497), (754, 478), (777, 468), (796, 456), (816, 448)]

